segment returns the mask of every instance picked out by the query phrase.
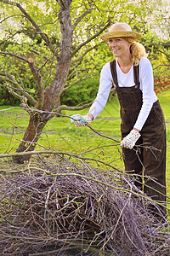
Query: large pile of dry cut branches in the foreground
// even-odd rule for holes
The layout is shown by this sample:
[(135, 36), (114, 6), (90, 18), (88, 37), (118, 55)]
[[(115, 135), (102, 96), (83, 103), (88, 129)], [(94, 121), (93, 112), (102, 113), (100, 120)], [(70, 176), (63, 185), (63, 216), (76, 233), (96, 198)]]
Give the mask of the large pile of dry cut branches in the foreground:
[(156, 223), (148, 203), (130, 177), (85, 162), (11, 165), (1, 170), (0, 253), (169, 255), (168, 223)]

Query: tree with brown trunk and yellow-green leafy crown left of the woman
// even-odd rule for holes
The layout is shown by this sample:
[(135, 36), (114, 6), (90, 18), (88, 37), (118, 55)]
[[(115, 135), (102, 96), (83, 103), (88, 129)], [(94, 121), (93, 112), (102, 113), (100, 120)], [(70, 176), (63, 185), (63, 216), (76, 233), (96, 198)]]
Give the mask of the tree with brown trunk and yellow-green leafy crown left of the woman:
[[(111, 53), (99, 40), (99, 35), (111, 23), (123, 20), (147, 38), (151, 21), (165, 17), (158, 11), (161, 1), (155, 0), (140, 0), (138, 4), (135, 0), (130, 3), (125, 0), (47, 0), (45, 3), (0, 0), (0, 3), (0, 83), (30, 114), (17, 152), (34, 150), (54, 112), (90, 105), (84, 104), (87, 98), (82, 97), (81, 106), (63, 106), (60, 96), (65, 96), (65, 91), (80, 81), (98, 74), (103, 64), (111, 60)], [(27, 159), (28, 156), (17, 156), (14, 161), (23, 163)]]

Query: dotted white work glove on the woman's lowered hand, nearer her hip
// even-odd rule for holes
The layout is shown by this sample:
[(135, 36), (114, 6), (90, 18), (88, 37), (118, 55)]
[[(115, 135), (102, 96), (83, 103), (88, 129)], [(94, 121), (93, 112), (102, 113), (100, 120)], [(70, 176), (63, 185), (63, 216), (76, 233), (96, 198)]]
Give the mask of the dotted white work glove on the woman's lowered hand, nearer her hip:
[(132, 149), (140, 136), (139, 131), (132, 130), (126, 137), (122, 139), (120, 147)]

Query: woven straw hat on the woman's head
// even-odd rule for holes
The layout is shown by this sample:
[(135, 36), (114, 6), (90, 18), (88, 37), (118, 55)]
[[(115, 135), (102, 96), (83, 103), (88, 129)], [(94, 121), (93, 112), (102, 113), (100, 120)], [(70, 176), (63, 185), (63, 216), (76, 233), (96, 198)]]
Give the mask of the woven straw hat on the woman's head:
[(137, 40), (141, 38), (141, 35), (139, 32), (132, 31), (131, 27), (127, 23), (117, 22), (110, 27), (109, 32), (105, 32), (101, 36), (101, 38), (106, 42), (108, 42), (111, 38), (117, 37), (128, 37), (133, 38), (133, 40)]

